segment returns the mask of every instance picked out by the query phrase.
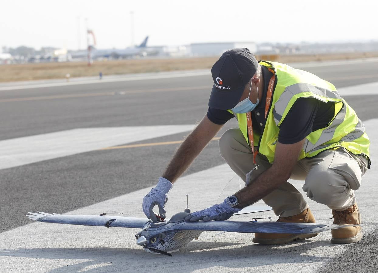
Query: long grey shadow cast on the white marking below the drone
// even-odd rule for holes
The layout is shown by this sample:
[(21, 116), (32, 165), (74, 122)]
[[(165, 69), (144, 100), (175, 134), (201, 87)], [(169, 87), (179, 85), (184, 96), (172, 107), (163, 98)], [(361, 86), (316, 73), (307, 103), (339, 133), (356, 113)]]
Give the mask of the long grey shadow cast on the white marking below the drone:
[[(48, 259), (48, 264), (54, 264), (56, 260), (56, 268), (49, 272), (192, 272), (209, 267), (274, 267), (279, 264), (290, 266), (291, 263), (328, 262), (331, 257), (305, 254), (308, 250), (325, 245), (329, 245), (328, 240), (305, 240), (284, 246), (200, 241), (186, 245), (180, 252), (172, 253), (173, 257), (150, 254), (140, 248), (21, 248), (0, 250), (0, 256)], [(66, 264), (64, 260), (67, 260)], [(77, 263), (72, 265), (72, 260)]]

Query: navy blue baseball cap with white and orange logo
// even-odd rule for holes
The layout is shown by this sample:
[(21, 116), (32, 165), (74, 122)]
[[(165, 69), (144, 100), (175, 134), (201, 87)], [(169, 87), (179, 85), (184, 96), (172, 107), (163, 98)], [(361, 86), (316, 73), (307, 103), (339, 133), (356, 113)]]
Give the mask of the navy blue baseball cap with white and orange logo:
[(256, 73), (259, 63), (248, 48), (225, 51), (211, 68), (214, 85), (209, 107), (228, 110), (242, 97), (245, 85)]

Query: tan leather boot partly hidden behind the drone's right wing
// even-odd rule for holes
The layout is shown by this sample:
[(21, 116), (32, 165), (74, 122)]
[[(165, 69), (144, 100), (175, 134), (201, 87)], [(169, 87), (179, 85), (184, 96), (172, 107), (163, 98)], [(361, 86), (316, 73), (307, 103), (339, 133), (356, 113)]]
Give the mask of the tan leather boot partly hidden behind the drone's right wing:
[[(297, 215), (288, 217), (279, 217), (277, 222), (287, 223), (315, 223), (314, 215), (311, 213), (310, 208), (306, 208), (304, 211)], [(290, 243), (294, 240), (304, 240), (312, 238), (318, 235), (316, 234), (289, 234), (289, 233), (255, 233), (255, 237), (252, 242), (265, 244), (265, 245), (282, 245)]]

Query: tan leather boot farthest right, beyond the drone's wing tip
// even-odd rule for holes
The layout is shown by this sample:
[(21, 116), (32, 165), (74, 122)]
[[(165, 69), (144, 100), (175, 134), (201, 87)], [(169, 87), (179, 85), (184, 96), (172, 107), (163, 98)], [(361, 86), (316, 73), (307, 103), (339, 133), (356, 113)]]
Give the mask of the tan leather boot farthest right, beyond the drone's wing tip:
[[(360, 225), (361, 224), (361, 214), (359, 214), (359, 209), (357, 203), (346, 210), (337, 211), (332, 210), (333, 224), (341, 225)], [(331, 218), (331, 219), (332, 219)], [(362, 229), (358, 227), (345, 227), (337, 228), (331, 231), (332, 238), (331, 243), (333, 244), (348, 244), (355, 243), (362, 239)]]

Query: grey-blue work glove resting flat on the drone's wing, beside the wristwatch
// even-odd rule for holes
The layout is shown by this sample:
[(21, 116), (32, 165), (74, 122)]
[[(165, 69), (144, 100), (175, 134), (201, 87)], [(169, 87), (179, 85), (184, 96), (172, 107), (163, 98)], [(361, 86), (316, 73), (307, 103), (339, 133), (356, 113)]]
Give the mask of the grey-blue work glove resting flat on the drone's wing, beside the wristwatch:
[(204, 210), (199, 210), (189, 214), (185, 217), (185, 221), (195, 222), (199, 220), (211, 221), (211, 220), (227, 220), (232, 214), (242, 210), (242, 208), (233, 208), (226, 203), (226, 200), (219, 204), (214, 205)]

